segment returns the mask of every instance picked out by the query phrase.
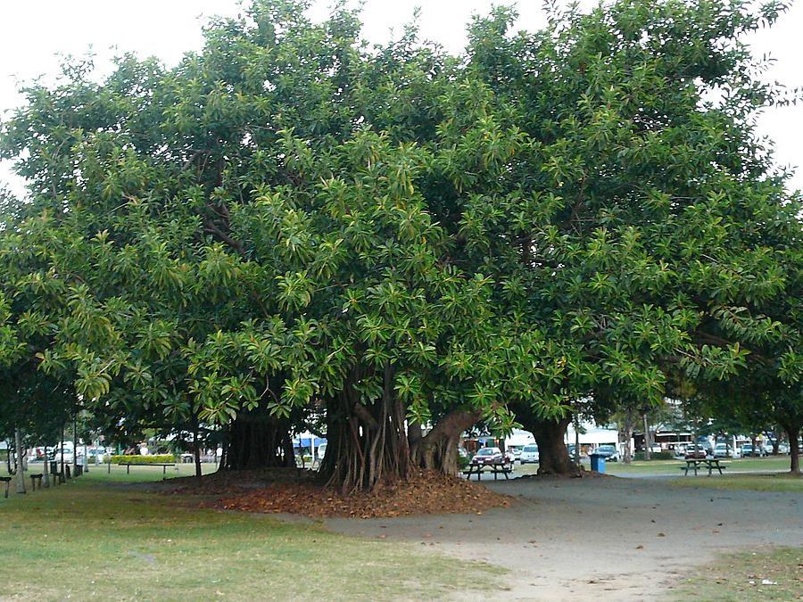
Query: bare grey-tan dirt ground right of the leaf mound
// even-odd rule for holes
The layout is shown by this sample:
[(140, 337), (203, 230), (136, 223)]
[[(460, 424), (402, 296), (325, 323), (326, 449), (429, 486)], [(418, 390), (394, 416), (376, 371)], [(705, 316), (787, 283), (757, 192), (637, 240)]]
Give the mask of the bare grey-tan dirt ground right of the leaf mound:
[[(803, 545), (799, 493), (681, 489), (615, 477), (484, 484), (517, 503), (474, 515), (326, 524), (509, 569), (505, 590), (482, 598), (456, 590), (461, 600), (671, 599), (680, 576), (719, 553)], [(469, 571), (455, 578), (472, 579)]]

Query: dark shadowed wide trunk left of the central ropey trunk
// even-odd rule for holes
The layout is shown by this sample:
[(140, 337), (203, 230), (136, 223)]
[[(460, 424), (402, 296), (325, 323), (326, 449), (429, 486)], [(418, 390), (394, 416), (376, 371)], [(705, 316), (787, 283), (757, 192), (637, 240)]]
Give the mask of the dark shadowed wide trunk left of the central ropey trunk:
[[(290, 428), (286, 420), (278, 420), (265, 411), (241, 412), (229, 426), (226, 470), (294, 466), (286, 455)], [(292, 441), (290, 443), (292, 445)]]

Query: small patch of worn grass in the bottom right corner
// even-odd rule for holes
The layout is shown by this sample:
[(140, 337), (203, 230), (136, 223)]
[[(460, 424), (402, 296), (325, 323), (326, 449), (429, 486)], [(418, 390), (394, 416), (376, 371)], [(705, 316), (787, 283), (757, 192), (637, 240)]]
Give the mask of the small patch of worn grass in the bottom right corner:
[[(767, 583), (766, 581), (769, 581)], [(683, 580), (672, 598), (684, 600), (799, 600), (803, 548), (759, 548), (723, 557)]]

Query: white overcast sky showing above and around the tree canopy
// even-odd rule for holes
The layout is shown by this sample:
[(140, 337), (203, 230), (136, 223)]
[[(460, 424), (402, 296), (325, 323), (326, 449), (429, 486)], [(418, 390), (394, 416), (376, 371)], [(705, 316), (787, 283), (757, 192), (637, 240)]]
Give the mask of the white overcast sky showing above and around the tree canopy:
[[(585, 0), (584, 4), (588, 4)], [(328, 0), (319, 0), (313, 17), (327, 14)], [(423, 37), (457, 52), (465, 45), (465, 24), (476, 12), (487, 12), (492, 4), (513, 4), (504, 0), (365, 0), (364, 37), (383, 42), (389, 31), (399, 31), (421, 7)], [(539, 29), (544, 23), (542, 0), (519, 0), (517, 29)], [(142, 57), (157, 56), (168, 65), (178, 62), (186, 51), (202, 44), (201, 24), (213, 14), (236, 15), (238, 0), (0, 0), (0, 114), (21, 103), (17, 81), (54, 74), (59, 54), (82, 55), (89, 46), (101, 73), (108, 72), (114, 54), (134, 52)], [(767, 79), (788, 87), (799, 87), (803, 77), (803, 3), (782, 15), (771, 30), (749, 38), (754, 54), (770, 54), (776, 62)], [(803, 106), (766, 111), (760, 121), (762, 134), (774, 140), (776, 160), (799, 168), (803, 135)], [(803, 169), (791, 186), (803, 188)], [(21, 192), (21, 183), (8, 165), (0, 165), (0, 184)]]

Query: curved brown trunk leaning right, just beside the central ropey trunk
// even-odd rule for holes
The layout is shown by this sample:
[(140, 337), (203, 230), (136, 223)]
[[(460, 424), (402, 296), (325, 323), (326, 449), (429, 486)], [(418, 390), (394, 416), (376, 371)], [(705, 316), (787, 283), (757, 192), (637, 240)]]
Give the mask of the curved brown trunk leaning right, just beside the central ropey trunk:
[(458, 474), (460, 435), (476, 425), (482, 416), (482, 412), (463, 409), (443, 416), (433, 429), (426, 433), (426, 437), (418, 438), (418, 441), (412, 444), (410, 456), (413, 464), (443, 474)]

